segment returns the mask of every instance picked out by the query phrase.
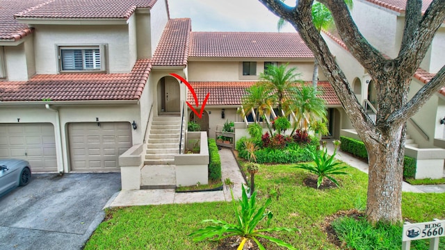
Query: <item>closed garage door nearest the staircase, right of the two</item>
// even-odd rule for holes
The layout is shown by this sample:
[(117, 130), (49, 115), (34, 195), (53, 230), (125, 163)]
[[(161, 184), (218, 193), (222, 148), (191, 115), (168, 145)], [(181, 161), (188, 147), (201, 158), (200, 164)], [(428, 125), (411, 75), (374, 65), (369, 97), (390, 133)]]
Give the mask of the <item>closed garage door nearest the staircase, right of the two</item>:
[(119, 156), (133, 145), (129, 122), (72, 123), (68, 133), (74, 171), (120, 170)]

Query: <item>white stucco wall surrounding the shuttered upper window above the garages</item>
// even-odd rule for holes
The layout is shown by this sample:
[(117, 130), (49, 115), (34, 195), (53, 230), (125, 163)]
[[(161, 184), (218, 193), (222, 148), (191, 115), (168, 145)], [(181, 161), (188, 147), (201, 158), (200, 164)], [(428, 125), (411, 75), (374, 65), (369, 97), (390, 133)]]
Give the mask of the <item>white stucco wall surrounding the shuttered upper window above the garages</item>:
[(34, 34), (37, 74), (58, 74), (58, 45), (107, 44), (105, 58), (109, 73), (126, 73), (133, 67), (127, 25), (35, 25)]

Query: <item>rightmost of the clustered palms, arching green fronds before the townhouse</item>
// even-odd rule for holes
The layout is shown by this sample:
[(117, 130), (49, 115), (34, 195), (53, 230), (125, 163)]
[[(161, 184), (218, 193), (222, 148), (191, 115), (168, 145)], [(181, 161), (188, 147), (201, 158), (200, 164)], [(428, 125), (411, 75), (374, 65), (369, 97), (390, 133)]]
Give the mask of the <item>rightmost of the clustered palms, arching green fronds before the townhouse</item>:
[(318, 91), (311, 85), (302, 84), (300, 88), (297, 88), (296, 94), (292, 96), (292, 110), (297, 118), (293, 131), (301, 122), (303, 122), (303, 128), (307, 130), (307, 126), (312, 122), (327, 120), (325, 100), (318, 97), (317, 94)]

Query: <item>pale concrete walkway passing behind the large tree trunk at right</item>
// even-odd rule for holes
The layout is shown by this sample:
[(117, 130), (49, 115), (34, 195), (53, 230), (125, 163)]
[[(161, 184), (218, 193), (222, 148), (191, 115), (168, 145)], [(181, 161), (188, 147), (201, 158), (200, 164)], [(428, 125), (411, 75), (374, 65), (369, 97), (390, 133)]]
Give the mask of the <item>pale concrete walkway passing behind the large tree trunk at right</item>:
[[(332, 140), (327, 140), (327, 153), (332, 154), (334, 153), (334, 144), (332, 143)], [(361, 160), (359, 158), (355, 158), (354, 156), (351, 156), (349, 153), (345, 153), (342, 151), (337, 151), (337, 155), (335, 158), (348, 163), (351, 167), (355, 167), (356, 169), (359, 169), (362, 172), (365, 172), (368, 174), (369, 165), (366, 163), (366, 161)], [(436, 193), (442, 193), (445, 192), (445, 185), (411, 185), (410, 183), (403, 182), (402, 185), (402, 191), (403, 192), (436, 192)]]

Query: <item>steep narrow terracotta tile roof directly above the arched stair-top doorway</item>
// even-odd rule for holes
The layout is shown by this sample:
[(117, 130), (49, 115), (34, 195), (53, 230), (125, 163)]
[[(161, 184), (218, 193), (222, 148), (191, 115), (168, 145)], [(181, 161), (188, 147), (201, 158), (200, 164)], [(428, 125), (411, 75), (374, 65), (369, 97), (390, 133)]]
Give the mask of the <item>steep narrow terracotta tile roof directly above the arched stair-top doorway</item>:
[(154, 51), (153, 66), (187, 65), (188, 47), (191, 32), (190, 18), (168, 20), (167, 25)]

